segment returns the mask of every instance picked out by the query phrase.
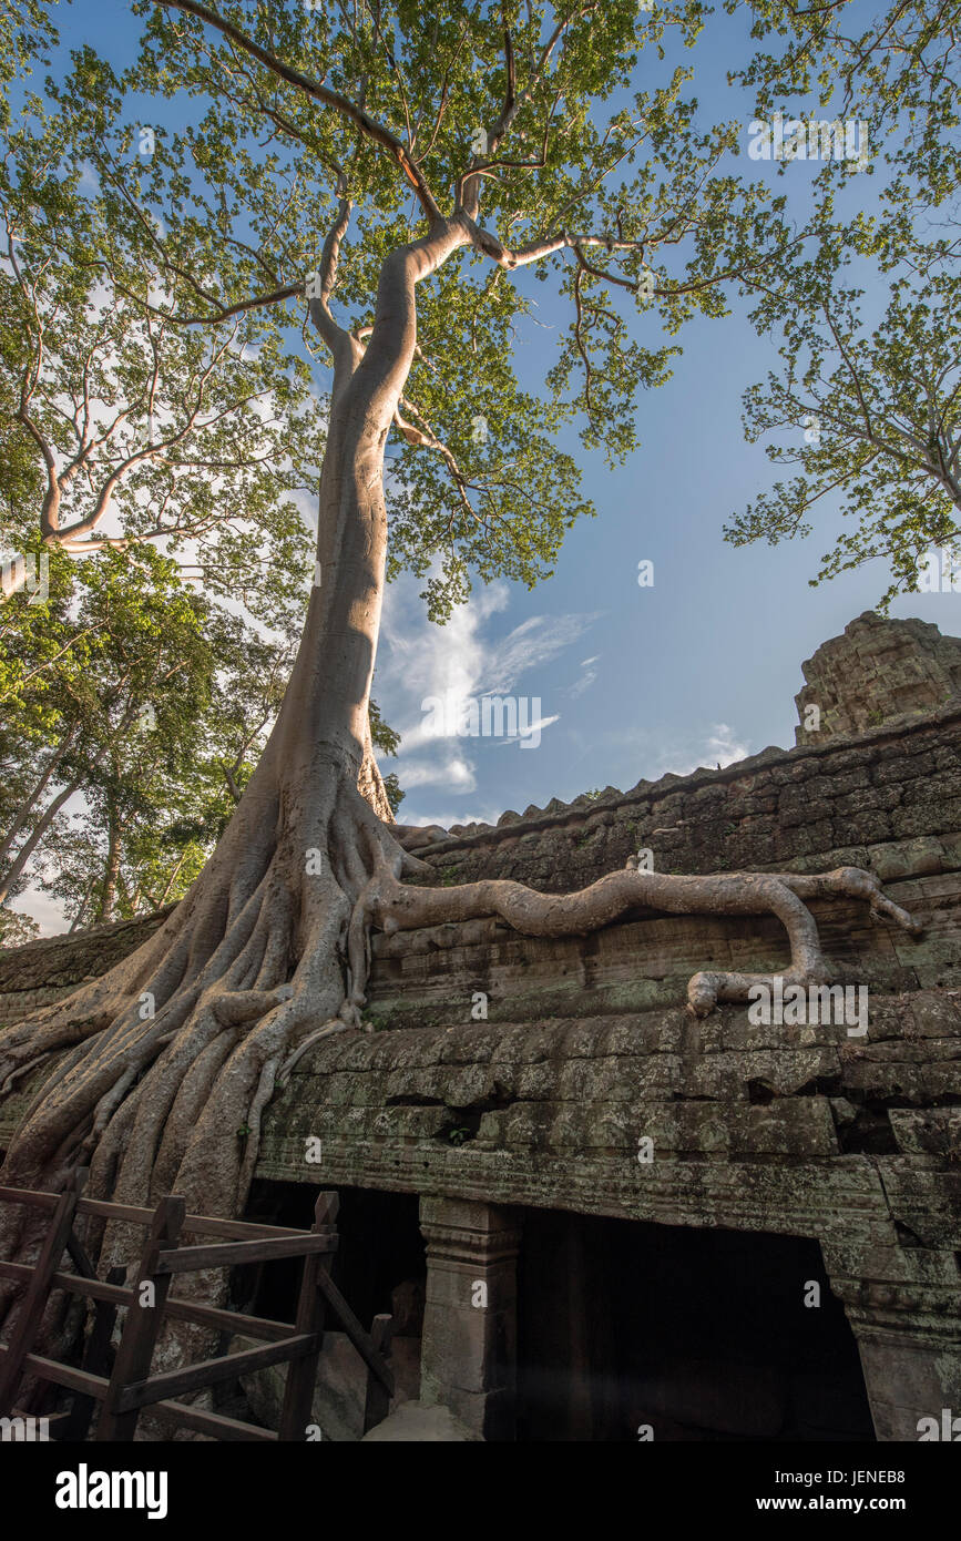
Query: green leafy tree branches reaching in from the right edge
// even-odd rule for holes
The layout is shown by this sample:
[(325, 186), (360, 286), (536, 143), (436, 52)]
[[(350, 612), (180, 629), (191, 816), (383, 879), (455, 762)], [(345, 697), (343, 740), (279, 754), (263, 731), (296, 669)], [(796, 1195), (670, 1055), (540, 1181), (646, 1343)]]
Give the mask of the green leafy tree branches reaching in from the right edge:
[[(886, 609), (919, 587), (932, 546), (961, 535), (961, 5), (932, 14), (896, 0), (853, 31), (847, 9), (755, 6), (755, 35), (787, 39), (741, 76), (758, 88), (758, 111), (792, 100), (799, 111), (816, 89), (833, 117), (862, 123), (872, 174), (825, 160), (812, 223), (758, 299), (752, 319), (781, 334), (784, 367), (747, 391), (745, 436), (785, 435), (767, 455), (799, 470), (736, 515), (725, 536), (742, 546), (809, 535), (821, 499), (838, 495), (847, 529), (812, 584), (879, 556), (892, 572)], [(855, 194), (852, 217), (842, 211)], [(872, 316), (882, 287), (887, 304)]]

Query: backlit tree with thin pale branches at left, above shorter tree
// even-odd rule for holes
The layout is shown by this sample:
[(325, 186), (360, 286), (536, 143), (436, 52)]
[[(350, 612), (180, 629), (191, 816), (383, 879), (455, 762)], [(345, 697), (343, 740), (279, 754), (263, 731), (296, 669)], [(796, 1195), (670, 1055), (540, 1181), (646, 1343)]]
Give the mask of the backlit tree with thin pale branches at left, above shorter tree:
[[(257, 307), (183, 325), (206, 302), (202, 264), (185, 270), (162, 243), (151, 190), (166, 168), (176, 200), (185, 156), (136, 131), (108, 66), (83, 57), (28, 100), (0, 123), (5, 547), (86, 558), (156, 544), (208, 595), (299, 629), (311, 566), (299, 499), (317, 496), (325, 418), (310, 361)], [(219, 191), (220, 259), (239, 282), (270, 271)], [(14, 564), (14, 579), (29, 570)], [(385, 807), (373, 754), (363, 777)]]

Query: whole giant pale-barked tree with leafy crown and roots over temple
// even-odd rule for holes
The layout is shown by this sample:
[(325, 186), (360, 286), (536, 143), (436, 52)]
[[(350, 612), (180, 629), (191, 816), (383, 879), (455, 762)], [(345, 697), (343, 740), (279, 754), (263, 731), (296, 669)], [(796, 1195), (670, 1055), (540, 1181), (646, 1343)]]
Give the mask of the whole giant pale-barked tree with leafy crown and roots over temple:
[[(319, 1036), (360, 1026), (373, 926), (499, 914), (564, 935), (638, 903), (770, 911), (792, 943), (785, 977), (807, 983), (825, 963), (805, 898), (859, 895), (912, 922), (856, 869), (670, 877), (635, 865), (564, 897), (508, 881), (433, 888), (430, 866), (357, 792), (388, 566), (427, 573), (439, 556), (431, 613), (465, 590), (470, 569), (533, 582), (587, 512), (559, 430), (578, 421), (587, 445), (621, 456), (638, 391), (667, 374), (667, 348), (631, 341), (631, 311), (656, 305), (676, 330), (724, 310), (725, 277), (776, 260), (761, 191), (719, 166), (733, 131), (696, 131), (682, 77), (667, 71), (627, 103), (639, 51), (653, 74), (665, 28), (693, 42), (698, 6), (655, 17), (633, 0), (450, 0), (427, 17), (407, 0), (139, 9), (140, 89), (185, 86), (199, 102), (149, 186), (131, 183), (151, 214), (163, 194), (149, 271), (171, 296), (165, 325), (219, 334), (243, 311), (268, 334), (306, 299), (333, 368), (316, 579), (270, 741), (189, 894), (132, 957), (5, 1032), (6, 1088), (72, 1048), (3, 1170), (49, 1183), (85, 1159), (97, 1194), (143, 1202), (176, 1187), (188, 1207), (231, 1213), (277, 1082)], [(112, 89), (86, 51), (63, 92), (77, 114), (69, 142), (132, 230), (103, 122)], [(182, 171), (188, 153), (196, 180)], [(265, 264), (279, 282), (259, 288)], [(570, 305), (539, 398), (511, 365), (528, 268)], [(149, 310), (146, 288), (131, 293)], [(391, 433), (399, 459), (385, 485)], [(768, 977), (701, 972), (691, 1009), (745, 999), (758, 980)], [(8, 1233), (8, 1247), (28, 1242)], [(119, 1251), (108, 1231), (103, 1254)]]

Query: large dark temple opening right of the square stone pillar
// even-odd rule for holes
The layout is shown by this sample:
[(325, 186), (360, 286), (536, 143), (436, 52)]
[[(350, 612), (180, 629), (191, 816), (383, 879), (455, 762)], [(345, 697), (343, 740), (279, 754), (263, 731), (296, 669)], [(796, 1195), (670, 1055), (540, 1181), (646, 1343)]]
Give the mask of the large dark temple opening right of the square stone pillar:
[(528, 1210), (517, 1284), (522, 1441), (875, 1438), (810, 1239)]

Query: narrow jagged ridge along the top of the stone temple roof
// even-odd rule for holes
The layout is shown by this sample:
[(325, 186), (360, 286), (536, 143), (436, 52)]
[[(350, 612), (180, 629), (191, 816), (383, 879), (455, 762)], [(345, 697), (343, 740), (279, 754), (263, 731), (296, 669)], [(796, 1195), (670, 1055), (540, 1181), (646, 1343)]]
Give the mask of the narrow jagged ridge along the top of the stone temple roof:
[[(619, 792), (616, 787), (605, 787), (601, 797), (587, 798), (582, 794), (573, 803), (562, 803), (561, 807), (554, 807), (553, 811), (550, 811), (548, 803), (548, 811), (542, 811), (537, 818), (522, 815), (510, 818), (510, 814), (502, 814), (496, 824), (477, 829), (471, 835), (451, 835), (448, 840), (437, 840), (430, 846), (420, 846), (417, 855), (422, 860), (430, 860), (430, 857), (444, 855), (448, 851), (464, 846), (496, 844), (501, 840), (513, 840), (517, 835), (562, 829), (567, 824), (584, 823), (594, 812), (630, 807), (647, 797), (665, 797), (668, 792), (679, 792), (688, 787), (696, 789), (707, 784), (724, 786), (727, 781), (738, 781), (742, 775), (764, 770), (778, 761), (790, 758), (796, 763), (798, 760), (818, 758), (819, 755), (844, 754), (850, 749), (867, 747), (884, 738), (909, 738), (924, 729), (953, 720), (961, 721), (961, 697), (933, 712), (926, 712), (924, 715), (909, 712), (904, 717), (889, 718), (887, 723), (881, 723), (876, 727), (869, 727), (862, 734), (844, 734), (829, 738), (822, 744), (793, 744), (790, 749), (768, 744), (767, 749), (761, 749), (756, 755), (748, 755), (747, 760), (738, 760), (730, 766), (724, 766), (722, 770), (712, 770), (708, 766), (698, 766), (688, 775), (676, 775), (673, 770), (667, 770), (658, 781), (638, 781), (627, 792)], [(559, 798), (551, 798), (551, 801), (559, 801)], [(505, 818), (508, 823), (504, 823)]]

